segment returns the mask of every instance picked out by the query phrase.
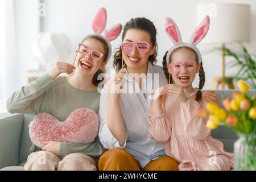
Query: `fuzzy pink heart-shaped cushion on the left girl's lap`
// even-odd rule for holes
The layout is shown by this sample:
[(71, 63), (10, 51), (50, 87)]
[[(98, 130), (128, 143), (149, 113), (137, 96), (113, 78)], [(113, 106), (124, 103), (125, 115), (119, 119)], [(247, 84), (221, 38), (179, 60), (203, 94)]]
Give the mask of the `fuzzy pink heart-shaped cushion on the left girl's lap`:
[(40, 113), (30, 122), (32, 142), (42, 148), (41, 141), (71, 143), (94, 142), (98, 134), (98, 115), (90, 109), (77, 109), (61, 122), (51, 114)]

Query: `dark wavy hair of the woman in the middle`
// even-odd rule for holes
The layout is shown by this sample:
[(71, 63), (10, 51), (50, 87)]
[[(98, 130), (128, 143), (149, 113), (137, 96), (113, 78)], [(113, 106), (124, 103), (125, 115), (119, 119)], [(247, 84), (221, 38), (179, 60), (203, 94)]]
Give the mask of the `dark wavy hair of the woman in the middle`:
[[(123, 34), (122, 34), (122, 41), (123, 38), (125, 38), (126, 32), (130, 29), (138, 29), (148, 32), (150, 34), (150, 41), (152, 43), (152, 46), (157, 45), (156, 44), (156, 28), (154, 26), (154, 23), (152, 23), (147, 18), (133, 18), (130, 19), (129, 22), (125, 24), (125, 27), (123, 27)], [(155, 50), (154, 54), (148, 57), (148, 61), (150, 61), (152, 64), (156, 63), (156, 56), (158, 55), (157, 50)], [(115, 71), (119, 71), (122, 68), (122, 49), (121, 46), (117, 49), (115, 49), (114, 53), (114, 61), (113, 66), (115, 68)], [(126, 65), (125, 65), (126, 67)]]

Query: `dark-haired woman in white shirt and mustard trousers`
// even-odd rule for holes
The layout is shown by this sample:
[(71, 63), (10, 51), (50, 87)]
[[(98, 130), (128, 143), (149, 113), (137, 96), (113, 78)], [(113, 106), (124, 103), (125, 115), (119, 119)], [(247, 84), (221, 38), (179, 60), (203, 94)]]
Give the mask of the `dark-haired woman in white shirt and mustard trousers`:
[[(100, 157), (99, 170), (177, 169), (176, 160), (166, 156), (163, 144), (148, 135), (146, 111), (152, 87), (146, 85), (154, 80), (159, 86), (167, 84), (162, 67), (154, 64), (156, 55), (154, 24), (146, 18), (127, 22), (122, 47), (114, 55), (114, 67), (119, 73), (105, 84), (101, 94), (99, 137), (111, 150)], [(111, 92), (109, 86), (117, 88), (117, 92)], [(120, 94), (119, 90), (127, 93)]]

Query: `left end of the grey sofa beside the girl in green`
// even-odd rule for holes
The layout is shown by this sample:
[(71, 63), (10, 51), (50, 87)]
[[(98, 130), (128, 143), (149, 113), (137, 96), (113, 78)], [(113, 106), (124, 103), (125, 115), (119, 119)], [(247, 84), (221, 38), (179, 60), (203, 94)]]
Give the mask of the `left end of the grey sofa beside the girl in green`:
[(28, 124), (33, 118), (32, 114), (0, 114), (0, 169), (26, 163), (32, 145)]

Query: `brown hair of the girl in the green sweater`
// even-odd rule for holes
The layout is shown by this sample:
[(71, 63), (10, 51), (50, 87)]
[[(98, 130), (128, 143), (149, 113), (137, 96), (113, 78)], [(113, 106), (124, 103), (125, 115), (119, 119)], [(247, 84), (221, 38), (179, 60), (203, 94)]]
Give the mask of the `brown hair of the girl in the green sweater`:
[[(103, 62), (104, 63), (106, 61), (106, 59), (108, 58), (109, 55), (109, 46), (108, 43), (106, 43), (106, 40), (104, 40), (103, 38), (101, 38), (100, 36), (97, 35), (90, 35), (90, 36), (86, 36), (81, 43), (83, 43), (85, 40), (87, 39), (95, 39), (100, 41), (103, 46), (104, 46), (104, 57), (103, 57)], [(104, 81), (104, 77), (101, 78), (101, 80), (98, 80), (98, 75), (100, 75), (101, 73), (105, 73), (106, 70), (104, 69), (98, 69), (98, 71), (94, 74), (92, 82), (94, 85), (98, 86), (98, 84), (100, 84), (101, 81)]]

